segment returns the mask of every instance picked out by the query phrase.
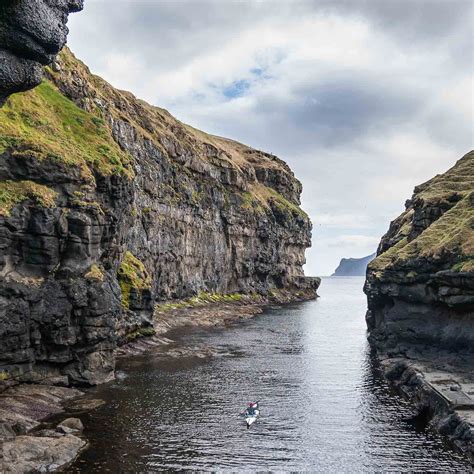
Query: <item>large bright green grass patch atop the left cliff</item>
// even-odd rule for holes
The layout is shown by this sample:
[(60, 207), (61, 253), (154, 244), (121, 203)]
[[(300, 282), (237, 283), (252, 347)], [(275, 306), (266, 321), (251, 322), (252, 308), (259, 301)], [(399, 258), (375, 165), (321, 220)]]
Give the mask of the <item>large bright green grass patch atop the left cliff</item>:
[(77, 166), (88, 180), (93, 180), (91, 169), (133, 176), (131, 157), (114, 142), (103, 119), (79, 108), (48, 81), (7, 101), (0, 109), (0, 130), (0, 153), (11, 149)]

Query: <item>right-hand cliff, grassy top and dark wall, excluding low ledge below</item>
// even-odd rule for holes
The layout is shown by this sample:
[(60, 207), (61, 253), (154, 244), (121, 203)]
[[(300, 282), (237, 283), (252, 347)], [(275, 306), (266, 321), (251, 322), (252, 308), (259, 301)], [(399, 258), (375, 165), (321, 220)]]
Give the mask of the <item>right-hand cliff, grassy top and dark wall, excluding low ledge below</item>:
[(371, 340), (474, 354), (474, 152), (415, 188), (369, 264)]

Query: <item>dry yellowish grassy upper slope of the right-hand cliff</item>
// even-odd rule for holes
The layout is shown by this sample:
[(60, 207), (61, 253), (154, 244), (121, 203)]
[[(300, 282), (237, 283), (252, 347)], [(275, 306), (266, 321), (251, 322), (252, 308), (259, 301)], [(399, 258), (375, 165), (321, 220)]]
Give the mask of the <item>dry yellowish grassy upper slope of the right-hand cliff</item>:
[(437, 270), (474, 270), (474, 152), (415, 188), (370, 263), (374, 276), (431, 262)]

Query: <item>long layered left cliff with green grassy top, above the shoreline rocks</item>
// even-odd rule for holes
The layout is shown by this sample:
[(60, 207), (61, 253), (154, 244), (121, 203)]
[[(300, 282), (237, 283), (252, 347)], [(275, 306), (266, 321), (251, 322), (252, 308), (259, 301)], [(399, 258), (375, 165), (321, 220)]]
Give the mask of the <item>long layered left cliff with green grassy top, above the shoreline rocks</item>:
[(0, 371), (99, 383), (157, 300), (314, 297), (311, 223), (283, 161), (182, 124), (67, 50), (59, 63), (0, 109)]

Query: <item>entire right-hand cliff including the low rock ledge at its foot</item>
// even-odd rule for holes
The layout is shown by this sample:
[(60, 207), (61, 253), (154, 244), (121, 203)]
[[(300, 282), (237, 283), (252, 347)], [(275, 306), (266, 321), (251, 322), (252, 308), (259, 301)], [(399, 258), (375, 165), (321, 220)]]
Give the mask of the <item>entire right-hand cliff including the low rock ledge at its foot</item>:
[(474, 152), (415, 188), (364, 290), (387, 378), (474, 462)]

